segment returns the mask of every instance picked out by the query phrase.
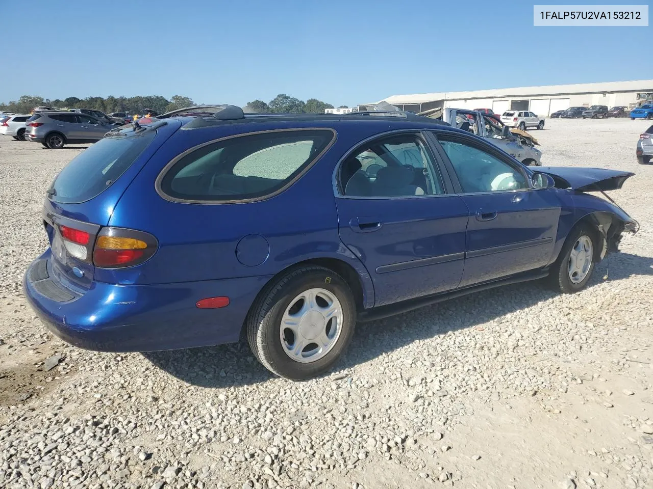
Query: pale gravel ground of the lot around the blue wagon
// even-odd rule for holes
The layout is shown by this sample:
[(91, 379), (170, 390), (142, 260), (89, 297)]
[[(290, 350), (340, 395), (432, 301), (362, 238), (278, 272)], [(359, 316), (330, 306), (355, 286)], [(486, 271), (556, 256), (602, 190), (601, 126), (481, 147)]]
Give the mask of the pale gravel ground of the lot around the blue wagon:
[(543, 162), (635, 171), (641, 231), (588, 289), (530, 283), (359, 325), (332, 375), (272, 378), (244, 344), (93, 353), (22, 297), (44, 190), (83, 151), (0, 139), (3, 488), (650, 488), (649, 123), (547, 120)]

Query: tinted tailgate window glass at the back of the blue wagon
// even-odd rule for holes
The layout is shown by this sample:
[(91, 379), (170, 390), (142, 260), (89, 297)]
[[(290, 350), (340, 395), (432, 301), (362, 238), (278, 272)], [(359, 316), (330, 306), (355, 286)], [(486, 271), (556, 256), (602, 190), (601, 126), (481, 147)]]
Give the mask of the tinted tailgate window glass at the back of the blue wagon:
[(151, 143), (156, 131), (110, 136), (85, 149), (61, 170), (52, 183), (52, 200), (80, 203), (92, 199), (119, 179)]

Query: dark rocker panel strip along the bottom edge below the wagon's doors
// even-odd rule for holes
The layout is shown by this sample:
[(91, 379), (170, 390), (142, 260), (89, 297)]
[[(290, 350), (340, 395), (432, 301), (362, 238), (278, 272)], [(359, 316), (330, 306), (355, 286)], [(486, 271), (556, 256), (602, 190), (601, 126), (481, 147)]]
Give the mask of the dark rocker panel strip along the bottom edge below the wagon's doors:
[(520, 282), (528, 282), (530, 280), (537, 280), (539, 278), (544, 278), (547, 275), (549, 275), (549, 269), (539, 269), (509, 276), (500, 280), (494, 280), (492, 282), (485, 282), (485, 284), (479, 284), (457, 290), (454, 289), (453, 291), (442, 292), (435, 295), (427, 295), (426, 297), (419, 297), (418, 299), (408, 299), (407, 301), (402, 301), (396, 304), (388, 304), (387, 306), (379, 306), (377, 308), (364, 310), (358, 313), (357, 321), (366, 323), (367, 321), (374, 321), (375, 319), (389, 318), (390, 316), (403, 314), (404, 312), (419, 309), (423, 306), (430, 306), (431, 304), (441, 303), (443, 301), (448, 301), (449, 299), (456, 299), (457, 297), (463, 297), (464, 295), (479, 292), (482, 290), (494, 289), (495, 287), (501, 287), (509, 284), (518, 284)]

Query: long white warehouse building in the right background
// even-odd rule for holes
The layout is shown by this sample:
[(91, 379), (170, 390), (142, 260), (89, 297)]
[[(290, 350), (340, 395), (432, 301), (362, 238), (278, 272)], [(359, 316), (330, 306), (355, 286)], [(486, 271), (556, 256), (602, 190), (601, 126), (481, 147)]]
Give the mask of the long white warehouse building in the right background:
[(358, 110), (371, 110), (379, 102), (388, 102), (401, 110), (419, 113), (436, 108), (529, 110), (540, 117), (575, 106), (607, 105), (633, 107), (653, 100), (653, 80), (634, 82), (577, 83), (541, 87), (501, 88), (467, 92), (416, 93), (392, 95), (378, 102), (359, 104)]

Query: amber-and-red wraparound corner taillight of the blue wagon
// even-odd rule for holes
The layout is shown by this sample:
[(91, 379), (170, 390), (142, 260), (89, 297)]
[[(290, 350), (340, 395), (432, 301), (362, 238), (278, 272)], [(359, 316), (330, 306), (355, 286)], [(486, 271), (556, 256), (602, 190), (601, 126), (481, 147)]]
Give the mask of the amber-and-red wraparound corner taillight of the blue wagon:
[(101, 268), (133, 267), (150, 259), (157, 240), (143, 231), (103, 228), (93, 248), (93, 264)]

